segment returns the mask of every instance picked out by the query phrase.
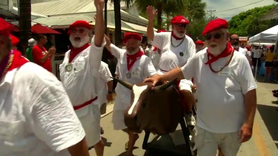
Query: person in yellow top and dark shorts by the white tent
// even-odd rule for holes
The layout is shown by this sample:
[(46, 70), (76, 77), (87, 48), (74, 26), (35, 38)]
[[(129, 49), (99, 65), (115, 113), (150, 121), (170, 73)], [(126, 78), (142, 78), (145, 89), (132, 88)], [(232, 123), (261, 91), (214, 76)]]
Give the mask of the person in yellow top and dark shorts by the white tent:
[(265, 73), (265, 78), (264, 78), (264, 82), (266, 82), (267, 76), (269, 76), (269, 82), (271, 82), (271, 77), (272, 77), (272, 68), (273, 68), (273, 61), (274, 61), (274, 45), (272, 45), (269, 48), (269, 51), (266, 52), (266, 73)]

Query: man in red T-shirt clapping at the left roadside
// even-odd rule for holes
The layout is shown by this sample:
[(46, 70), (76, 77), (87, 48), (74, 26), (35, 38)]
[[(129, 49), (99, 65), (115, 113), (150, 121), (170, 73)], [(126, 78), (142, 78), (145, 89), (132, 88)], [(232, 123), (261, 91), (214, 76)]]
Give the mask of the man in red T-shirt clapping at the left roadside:
[(37, 36), (37, 45), (32, 49), (32, 56), (34, 63), (42, 66), (49, 72), (52, 72), (52, 66), (50, 59), (54, 56), (56, 49), (52, 46), (48, 51), (43, 47), (47, 43), (46, 36), (39, 34)]

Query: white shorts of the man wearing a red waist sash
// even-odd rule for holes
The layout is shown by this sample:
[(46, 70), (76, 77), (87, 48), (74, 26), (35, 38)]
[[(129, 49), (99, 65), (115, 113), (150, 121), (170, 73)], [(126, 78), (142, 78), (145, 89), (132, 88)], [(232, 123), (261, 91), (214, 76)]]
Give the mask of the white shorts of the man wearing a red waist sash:
[[(94, 146), (101, 140), (101, 134), (100, 134), (100, 110), (99, 105), (92, 105), (92, 113), (93, 116), (88, 113), (88, 115), (82, 116), (79, 118), (83, 129), (86, 133), (86, 142), (88, 144), (88, 147)], [(92, 118), (95, 118), (93, 120)], [(93, 122), (92, 122), (93, 121)]]

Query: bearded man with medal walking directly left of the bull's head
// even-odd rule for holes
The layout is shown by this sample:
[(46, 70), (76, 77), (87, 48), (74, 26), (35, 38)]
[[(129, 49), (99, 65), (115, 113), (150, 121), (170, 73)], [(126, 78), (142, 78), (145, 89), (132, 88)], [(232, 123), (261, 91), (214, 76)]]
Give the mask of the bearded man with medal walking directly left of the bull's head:
[[(144, 52), (139, 48), (142, 40), (140, 34), (130, 32), (125, 33), (123, 43), (126, 44), (126, 49), (120, 49), (113, 45), (106, 35), (105, 38), (107, 43), (106, 48), (118, 60), (117, 74), (120, 80), (124, 80), (131, 84), (138, 84), (143, 82), (147, 77), (158, 75), (151, 63), (151, 59), (144, 55)], [(116, 94), (112, 122), (115, 130), (123, 130), (128, 134), (129, 141), (126, 144), (126, 155), (132, 156), (133, 146), (139, 136), (138, 134), (129, 131), (124, 122), (124, 112), (130, 106), (131, 102), (131, 90), (118, 83)]]

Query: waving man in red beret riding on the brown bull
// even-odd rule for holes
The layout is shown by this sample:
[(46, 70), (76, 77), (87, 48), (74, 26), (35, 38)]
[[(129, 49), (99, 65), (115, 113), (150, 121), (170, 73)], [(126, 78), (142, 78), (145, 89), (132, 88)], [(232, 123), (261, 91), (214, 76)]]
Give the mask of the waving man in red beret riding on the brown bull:
[[(196, 53), (194, 41), (186, 35), (186, 26), (189, 21), (182, 16), (176, 16), (171, 19), (172, 32), (155, 33), (153, 31), (154, 18), (157, 11), (153, 11), (152, 6), (147, 7), (147, 14), (149, 24), (147, 28), (147, 37), (153, 42), (153, 45), (161, 49), (162, 52), (171, 50), (174, 52), (179, 60), (179, 66), (183, 66), (188, 62), (192, 56)], [(185, 117), (187, 125), (192, 129), (195, 124), (195, 118), (192, 115), (192, 105), (195, 101), (192, 95), (193, 83), (191, 78), (188, 80), (181, 80), (179, 83), (179, 89), (181, 90), (181, 96), (186, 105)], [(192, 133), (193, 134), (193, 133)]]

